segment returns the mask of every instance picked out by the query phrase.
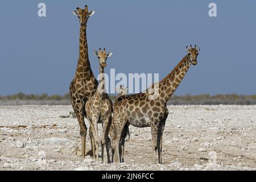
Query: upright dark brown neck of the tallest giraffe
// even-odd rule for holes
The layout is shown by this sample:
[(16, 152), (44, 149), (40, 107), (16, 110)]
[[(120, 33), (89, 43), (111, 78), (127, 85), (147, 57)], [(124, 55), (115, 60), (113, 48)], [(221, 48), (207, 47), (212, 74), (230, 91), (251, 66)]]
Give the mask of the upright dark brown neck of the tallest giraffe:
[(92, 75), (92, 69), (90, 69), (90, 62), (88, 56), (86, 28), (84, 29), (80, 27), (79, 42), (79, 61), (77, 63), (76, 76), (81, 79), (86, 79)]

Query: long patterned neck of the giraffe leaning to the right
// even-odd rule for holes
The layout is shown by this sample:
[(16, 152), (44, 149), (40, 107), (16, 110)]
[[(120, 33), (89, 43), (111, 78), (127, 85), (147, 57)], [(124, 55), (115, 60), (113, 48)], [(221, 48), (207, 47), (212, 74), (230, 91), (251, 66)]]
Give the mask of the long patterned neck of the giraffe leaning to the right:
[(160, 98), (163, 98), (164, 102), (167, 102), (170, 99), (172, 94), (180, 85), (180, 82), (183, 80), (190, 66), (191, 61), (189, 60), (189, 55), (187, 55), (179, 64), (177, 64), (174, 70), (167, 77), (159, 82), (159, 96)]

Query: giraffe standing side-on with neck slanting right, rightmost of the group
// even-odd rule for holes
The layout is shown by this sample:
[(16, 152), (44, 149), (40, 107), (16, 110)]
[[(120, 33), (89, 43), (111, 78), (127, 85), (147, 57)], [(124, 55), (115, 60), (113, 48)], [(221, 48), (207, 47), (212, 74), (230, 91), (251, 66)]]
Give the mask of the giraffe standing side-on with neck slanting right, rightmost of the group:
[[(144, 93), (138, 93), (119, 97), (113, 111), (112, 129), (114, 135), (114, 162), (119, 163), (119, 142), (121, 133), (126, 122), (136, 127), (151, 127), (153, 163), (156, 164), (156, 150), (158, 150), (158, 160), (162, 163), (162, 141), (166, 119), (168, 117), (167, 101), (183, 80), (191, 63), (197, 64), (197, 56), (200, 48), (186, 47), (188, 54), (185, 56), (174, 70), (162, 81), (153, 84), (152, 89), (158, 91), (158, 97), (152, 93), (151, 88)], [(152, 99), (154, 98), (154, 99)]]

